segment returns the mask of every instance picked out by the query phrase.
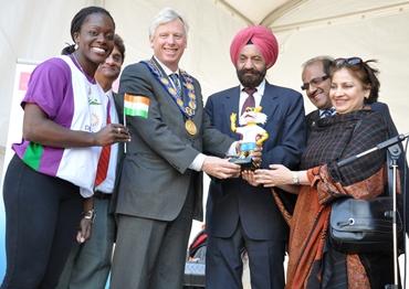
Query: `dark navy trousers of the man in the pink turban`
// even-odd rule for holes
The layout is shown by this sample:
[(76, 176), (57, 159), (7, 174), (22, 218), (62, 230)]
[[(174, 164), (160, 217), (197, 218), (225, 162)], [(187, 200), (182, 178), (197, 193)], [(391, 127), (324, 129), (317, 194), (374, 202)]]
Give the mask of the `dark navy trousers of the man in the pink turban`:
[(241, 253), (249, 256), (250, 279), (253, 289), (284, 288), (285, 242), (251, 239), (238, 222), (233, 235), (228, 238), (208, 238), (206, 251), (206, 288), (242, 289), (243, 263)]

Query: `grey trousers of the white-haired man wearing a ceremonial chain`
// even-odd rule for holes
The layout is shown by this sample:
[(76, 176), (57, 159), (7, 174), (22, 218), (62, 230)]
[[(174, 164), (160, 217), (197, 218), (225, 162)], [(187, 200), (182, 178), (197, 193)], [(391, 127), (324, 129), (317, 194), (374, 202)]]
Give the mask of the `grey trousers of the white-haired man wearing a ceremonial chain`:
[(119, 214), (112, 265), (112, 289), (181, 289), (195, 190), (181, 212), (166, 222)]

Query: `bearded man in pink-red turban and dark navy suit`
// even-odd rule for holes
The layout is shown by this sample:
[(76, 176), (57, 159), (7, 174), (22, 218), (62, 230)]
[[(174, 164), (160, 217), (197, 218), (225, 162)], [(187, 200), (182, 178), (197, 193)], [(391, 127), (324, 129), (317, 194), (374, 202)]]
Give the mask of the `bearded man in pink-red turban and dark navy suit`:
[[(258, 25), (240, 31), (230, 47), (240, 85), (210, 96), (206, 110), (211, 125), (240, 139), (231, 131), (231, 114), (240, 116), (248, 107), (261, 106), (268, 116), (263, 128), (270, 136), (263, 143), (261, 167), (282, 163), (294, 170), (305, 146), (304, 105), (300, 93), (265, 79), (277, 55), (279, 44), (269, 29)], [(274, 190), (282, 197), (289, 195)], [(270, 189), (252, 186), (241, 178), (212, 179), (207, 212), (207, 289), (242, 288), (244, 249), (252, 288), (284, 288), (289, 228)]]

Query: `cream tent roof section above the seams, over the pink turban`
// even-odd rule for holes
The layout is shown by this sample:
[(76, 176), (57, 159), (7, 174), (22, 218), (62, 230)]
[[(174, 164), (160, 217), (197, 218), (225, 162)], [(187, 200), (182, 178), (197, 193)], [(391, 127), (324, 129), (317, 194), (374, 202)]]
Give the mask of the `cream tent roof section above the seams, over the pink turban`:
[(322, 0), (258, 1), (256, 4), (253, 1), (218, 0), (216, 4), (224, 7), (249, 25), (263, 24), (273, 28), (274, 31), (300, 29), (301, 25), (339, 19), (365, 19), (409, 8), (409, 1), (401, 0), (343, 0), (325, 1), (325, 4)]

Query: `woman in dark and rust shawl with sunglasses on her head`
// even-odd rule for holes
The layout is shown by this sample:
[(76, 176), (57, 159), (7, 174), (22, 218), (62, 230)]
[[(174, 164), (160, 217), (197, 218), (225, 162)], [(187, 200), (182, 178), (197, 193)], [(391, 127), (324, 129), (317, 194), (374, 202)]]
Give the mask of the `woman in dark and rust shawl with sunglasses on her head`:
[[(286, 288), (365, 289), (394, 283), (392, 253), (343, 254), (327, 238), (334, 201), (343, 196), (370, 200), (384, 193), (385, 152), (337, 165), (388, 138), (384, 117), (370, 109), (379, 92), (378, 71), (371, 63), (359, 57), (334, 61), (329, 97), (336, 115), (319, 119), (312, 128), (300, 171), (271, 164), (270, 170), (243, 173), (253, 185), (273, 188), (289, 222)], [(293, 214), (281, 205), (275, 186), (298, 194)]]

